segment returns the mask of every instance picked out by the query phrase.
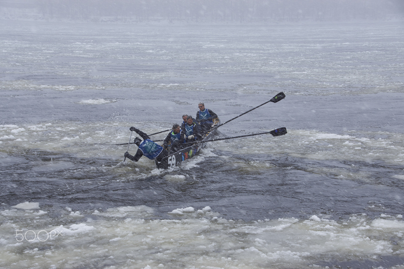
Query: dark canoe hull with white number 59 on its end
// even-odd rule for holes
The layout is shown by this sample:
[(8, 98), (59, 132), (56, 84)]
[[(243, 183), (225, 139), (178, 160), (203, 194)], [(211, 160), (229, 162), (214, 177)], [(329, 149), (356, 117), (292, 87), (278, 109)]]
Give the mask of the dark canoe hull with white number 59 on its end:
[(178, 152), (174, 155), (170, 155), (168, 158), (166, 158), (162, 162), (158, 162), (157, 160), (154, 160), (157, 168), (159, 168), (159, 169), (174, 168), (175, 166), (179, 166), (179, 164), (182, 161), (185, 161), (189, 158), (197, 156), (200, 149), (204, 148), (207, 143), (207, 142), (204, 143), (203, 141), (213, 139), (213, 137), (216, 135), (217, 128), (215, 128), (215, 126), (218, 126), (219, 124), (220, 124), (219, 118), (215, 118), (213, 120), (212, 129), (210, 129), (210, 131), (202, 139), (202, 143), (198, 143), (198, 144), (192, 145), (190, 147), (186, 147), (185, 149), (181, 150), (180, 152)]

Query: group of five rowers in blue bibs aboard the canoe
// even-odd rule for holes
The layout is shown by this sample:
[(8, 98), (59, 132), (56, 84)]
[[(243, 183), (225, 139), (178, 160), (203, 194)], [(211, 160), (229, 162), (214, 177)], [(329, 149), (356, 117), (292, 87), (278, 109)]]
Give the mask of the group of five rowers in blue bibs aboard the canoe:
[[(215, 112), (206, 109), (204, 103), (198, 104), (199, 111), (196, 112), (196, 118), (184, 114), (183, 122), (173, 125), (173, 130), (164, 139), (163, 146), (153, 142), (150, 137), (141, 130), (130, 127), (129, 130), (135, 131), (143, 138), (135, 138), (135, 144), (139, 147), (135, 156), (125, 152), (125, 158), (137, 162), (143, 155), (150, 160), (156, 159), (161, 162), (165, 156), (174, 153), (182, 148), (183, 143), (193, 142), (202, 139), (213, 125), (213, 120), (217, 118)], [(170, 151), (168, 152), (168, 144), (170, 143)], [(189, 145), (189, 144), (187, 144)]]

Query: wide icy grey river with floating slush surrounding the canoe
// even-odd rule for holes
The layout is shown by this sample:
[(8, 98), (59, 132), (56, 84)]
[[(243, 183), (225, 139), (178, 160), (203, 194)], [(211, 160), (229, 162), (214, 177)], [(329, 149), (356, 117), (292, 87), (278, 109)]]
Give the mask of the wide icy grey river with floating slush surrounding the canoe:
[[(102, 145), (281, 91), (172, 170)], [(0, 268), (404, 268), (403, 104), (402, 22), (0, 21)]]

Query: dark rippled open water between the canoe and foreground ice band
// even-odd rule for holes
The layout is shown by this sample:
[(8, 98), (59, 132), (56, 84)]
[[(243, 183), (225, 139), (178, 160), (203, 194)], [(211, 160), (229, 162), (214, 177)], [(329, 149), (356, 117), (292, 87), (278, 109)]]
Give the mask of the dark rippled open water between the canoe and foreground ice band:
[[(397, 214), (403, 206), (403, 183), (392, 177), (400, 174), (402, 166), (237, 154), (214, 146), (212, 151), (218, 156), (205, 158), (199, 167), (147, 175), (151, 167), (136, 178), (132, 177), (136, 172), (111, 168), (116, 161), (106, 158), (76, 158), (38, 150), (3, 154), (6, 177), (2, 202), (13, 205), (29, 200), (78, 210), (146, 205), (157, 208), (162, 217), (167, 217), (164, 212), (173, 206), (199, 208), (208, 203), (223, 216), (247, 221), (313, 214), (338, 219), (363, 212), (378, 216), (381, 212)], [(250, 162), (271, 166), (255, 168)], [(125, 165), (136, 166), (130, 161)], [(97, 168), (89, 169), (94, 166)], [(338, 179), (336, 169), (361, 174), (362, 178)], [(164, 176), (170, 174), (183, 175), (185, 180), (168, 181)]]

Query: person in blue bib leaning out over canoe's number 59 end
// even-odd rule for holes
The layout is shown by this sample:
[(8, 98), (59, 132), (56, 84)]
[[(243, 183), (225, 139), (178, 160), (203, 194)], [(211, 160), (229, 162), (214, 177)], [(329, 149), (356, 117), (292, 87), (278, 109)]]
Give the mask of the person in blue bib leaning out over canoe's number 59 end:
[[(139, 147), (139, 149), (137, 149), (135, 156), (130, 155), (128, 151), (126, 151), (124, 155), (125, 158), (128, 158), (133, 162), (137, 162), (144, 155), (150, 160), (156, 159), (158, 162), (161, 162), (162, 158), (168, 156), (168, 151), (166, 149), (163, 149), (162, 146), (151, 141), (150, 137), (146, 133), (135, 127), (130, 127), (129, 130), (135, 131), (143, 138), (143, 141), (141, 141), (140, 138), (136, 137), (135, 144)], [(167, 158), (165, 158), (164, 160), (167, 161)]]

